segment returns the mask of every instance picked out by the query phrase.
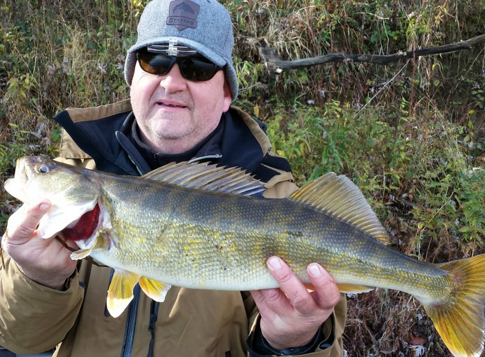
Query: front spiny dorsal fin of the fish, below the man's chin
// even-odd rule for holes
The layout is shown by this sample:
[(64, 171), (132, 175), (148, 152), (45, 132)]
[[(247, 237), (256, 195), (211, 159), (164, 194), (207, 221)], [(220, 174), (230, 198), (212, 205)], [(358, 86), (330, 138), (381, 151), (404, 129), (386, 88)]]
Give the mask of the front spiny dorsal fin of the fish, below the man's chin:
[(214, 164), (179, 162), (170, 163), (143, 175), (145, 179), (183, 186), (186, 189), (255, 195), (265, 191), (264, 186), (240, 168), (223, 168)]

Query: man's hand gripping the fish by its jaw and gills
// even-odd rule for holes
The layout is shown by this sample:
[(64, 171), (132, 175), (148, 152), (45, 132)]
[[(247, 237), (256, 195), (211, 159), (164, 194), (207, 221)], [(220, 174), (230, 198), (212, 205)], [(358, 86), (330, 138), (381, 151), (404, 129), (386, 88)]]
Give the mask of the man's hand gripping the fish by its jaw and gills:
[[(1, 246), (24, 275), (43, 286), (60, 289), (76, 269), (76, 261), (55, 238), (37, 236), (39, 220), (50, 207), (51, 202), (47, 200), (20, 207), (8, 220)], [(67, 244), (78, 249), (72, 241)]]

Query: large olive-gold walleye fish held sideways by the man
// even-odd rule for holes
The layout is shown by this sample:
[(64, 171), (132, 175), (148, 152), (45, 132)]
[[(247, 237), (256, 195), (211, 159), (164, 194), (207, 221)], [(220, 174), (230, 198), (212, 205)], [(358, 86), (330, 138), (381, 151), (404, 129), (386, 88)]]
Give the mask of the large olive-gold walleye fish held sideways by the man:
[(343, 292), (390, 288), (414, 295), (455, 356), (480, 356), (485, 341), (485, 254), (417, 261), (386, 247), (387, 233), (357, 186), (328, 173), (285, 199), (251, 197), (263, 186), (237, 168), (169, 164), (118, 176), (42, 157), (17, 161), (5, 189), (53, 203), (39, 236), (61, 232), (114, 268), (107, 307), (117, 317), (138, 283), (163, 302), (170, 286), (256, 290), (278, 284), (265, 261), (278, 255), (304, 284), (323, 265)]

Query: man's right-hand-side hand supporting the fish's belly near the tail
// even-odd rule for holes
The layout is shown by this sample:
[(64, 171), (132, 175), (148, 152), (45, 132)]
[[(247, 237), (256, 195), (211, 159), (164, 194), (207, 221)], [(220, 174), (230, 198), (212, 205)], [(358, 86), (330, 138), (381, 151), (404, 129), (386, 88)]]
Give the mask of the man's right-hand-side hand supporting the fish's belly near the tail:
[(264, 338), (277, 350), (307, 345), (340, 300), (337, 284), (317, 263), (310, 263), (307, 268), (315, 286), (312, 292), (280, 258), (271, 256), (267, 267), (281, 289), (251, 292), (261, 313)]

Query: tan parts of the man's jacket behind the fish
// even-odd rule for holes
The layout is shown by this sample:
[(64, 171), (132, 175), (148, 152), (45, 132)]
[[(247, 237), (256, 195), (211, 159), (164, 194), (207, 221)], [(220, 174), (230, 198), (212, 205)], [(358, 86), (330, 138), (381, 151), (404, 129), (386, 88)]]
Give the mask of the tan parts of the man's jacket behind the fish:
[[(59, 159), (94, 168), (92, 159), (72, 143), (63, 143)], [(266, 196), (284, 197), (296, 189), (287, 179), (274, 181)], [(6, 268), (0, 267), (1, 346), (17, 354), (58, 345), (54, 356), (121, 356), (127, 311), (117, 318), (105, 313), (111, 269), (89, 261), (78, 267), (67, 290), (57, 291), (22, 275), (6, 256)], [(141, 293), (131, 356), (148, 354), (150, 301)], [(333, 346), (306, 356), (342, 356), (344, 295), (334, 317), (335, 326), (330, 319), (323, 326), (325, 336), (330, 331), (335, 334)], [(245, 340), (257, 318), (256, 305), (247, 292), (172, 287), (159, 305), (153, 356), (247, 356)]]

